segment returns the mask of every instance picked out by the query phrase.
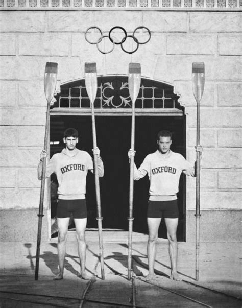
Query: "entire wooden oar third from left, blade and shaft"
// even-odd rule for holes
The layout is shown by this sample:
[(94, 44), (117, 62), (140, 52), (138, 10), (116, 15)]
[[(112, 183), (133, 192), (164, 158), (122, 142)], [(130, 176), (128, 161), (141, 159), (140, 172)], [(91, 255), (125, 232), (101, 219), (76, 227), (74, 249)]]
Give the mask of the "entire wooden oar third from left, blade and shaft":
[[(140, 63), (129, 64), (129, 94), (132, 101), (131, 150), (134, 150), (135, 132), (135, 101), (137, 99), (141, 81)], [(134, 156), (130, 157), (130, 186), (129, 186), (129, 250), (128, 250), (128, 280), (131, 279), (132, 263), (132, 231), (133, 231), (133, 199), (134, 199)]]

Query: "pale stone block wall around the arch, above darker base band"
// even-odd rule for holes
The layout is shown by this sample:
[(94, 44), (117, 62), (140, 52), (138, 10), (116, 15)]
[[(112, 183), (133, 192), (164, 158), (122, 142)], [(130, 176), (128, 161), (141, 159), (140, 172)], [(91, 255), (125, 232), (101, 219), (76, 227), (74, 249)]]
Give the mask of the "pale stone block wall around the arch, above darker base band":
[[(46, 61), (58, 62), (61, 83), (84, 78), (84, 62), (95, 61), (98, 75), (127, 75), (129, 62), (140, 62), (143, 77), (173, 84), (187, 114), (187, 152), (191, 161), (196, 155), (193, 148), (196, 102), (191, 87), (191, 65), (204, 62), (201, 210), (212, 213), (240, 208), (242, 23), (239, 12), (2, 11), (1, 17), (2, 210), (17, 213), (36, 209), (37, 213), (40, 182), (36, 165), (44, 137)], [(84, 39), (85, 30), (93, 25), (104, 32), (116, 25), (129, 32), (144, 25), (152, 31), (152, 37), (133, 55), (124, 53), (120, 46), (103, 55)], [(109, 48), (107, 40), (105, 47)], [(193, 212), (195, 180), (188, 179), (187, 187), (187, 210)], [(1, 225), (6, 230), (10, 222), (7, 215), (4, 217)], [(28, 234), (24, 238), (28, 239)]]

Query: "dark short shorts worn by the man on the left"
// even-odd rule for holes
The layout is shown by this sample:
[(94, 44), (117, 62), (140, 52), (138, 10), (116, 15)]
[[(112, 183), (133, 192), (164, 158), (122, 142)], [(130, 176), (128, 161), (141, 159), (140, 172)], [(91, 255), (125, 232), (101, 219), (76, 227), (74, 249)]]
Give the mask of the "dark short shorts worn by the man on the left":
[(70, 217), (71, 213), (73, 214), (73, 218), (86, 218), (87, 217), (86, 199), (78, 199), (78, 200), (59, 199), (56, 217), (57, 218)]

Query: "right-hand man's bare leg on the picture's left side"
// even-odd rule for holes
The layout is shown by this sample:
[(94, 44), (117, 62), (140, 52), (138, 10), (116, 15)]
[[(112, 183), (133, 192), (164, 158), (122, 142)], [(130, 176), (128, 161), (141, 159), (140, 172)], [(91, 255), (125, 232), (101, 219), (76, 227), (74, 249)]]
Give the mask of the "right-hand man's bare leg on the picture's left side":
[(158, 238), (158, 229), (161, 222), (161, 218), (147, 218), (149, 229), (149, 240), (147, 245), (149, 274), (146, 276), (146, 280), (152, 280), (155, 278), (154, 266), (156, 256), (156, 240)]

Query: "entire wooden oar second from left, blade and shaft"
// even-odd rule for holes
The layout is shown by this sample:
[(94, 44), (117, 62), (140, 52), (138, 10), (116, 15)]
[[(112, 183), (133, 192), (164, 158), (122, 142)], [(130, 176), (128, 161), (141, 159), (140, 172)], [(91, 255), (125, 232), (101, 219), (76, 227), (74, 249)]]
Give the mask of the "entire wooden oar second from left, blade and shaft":
[[(86, 62), (85, 63), (85, 85), (88, 97), (91, 104), (91, 123), (92, 123), (92, 138), (93, 138), (93, 149), (96, 148), (96, 126), (95, 126), (95, 115), (94, 115), (94, 101), (96, 97), (96, 91), (98, 90), (98, 79), (96, 77), (96, 63)], [(98, 155), (94, 155), (94, 177), (95, 177), (95, 189), (96, 189), (96, 206), (97, 214), (96, 220), (98, 220), (99, 228), (99, 250), (100, 250), (100, 264), (101, 264), (101, 276), (104, 277), (104, 260), (103, 260), (103, 234), (102, 234), (102, 214), (101, 214), (101, 198), (100, 198), (100, 187), (99, 187), (99, 174), (98, 174)]]

